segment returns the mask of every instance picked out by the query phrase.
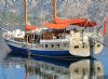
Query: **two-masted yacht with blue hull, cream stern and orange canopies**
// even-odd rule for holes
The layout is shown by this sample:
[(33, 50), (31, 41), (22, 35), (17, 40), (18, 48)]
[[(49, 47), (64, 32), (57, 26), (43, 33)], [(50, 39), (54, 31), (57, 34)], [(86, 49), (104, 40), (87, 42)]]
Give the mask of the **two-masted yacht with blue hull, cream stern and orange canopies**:
[[(54, 23), (44, 23), (44, 27), (37, 27), (30, 25), (28, 22), (27, 0), (24, 0), (25, 31), (16, 29), (3, 32), (3, 38), (9, 47), (13, 52), (28, 53), (29, 50), (31, 54), (43, 56), (91, 56), (89, 37), (92, 37), (93, 34), (77, 30), (67, 31), (66, 28), (68, 28), (69, 25), (77, 25), (85, 28), (94, 27), (96, 23), (87, 22), (86, 18), (60, 19), (56, 16), (56, 0), (53, 0), (53, 3)], [(66, 31), (64, 32), (64, 30)], [(92, 52), (97, 54), (103, 50), (103, 44), (94, 41), (92, 48)]]

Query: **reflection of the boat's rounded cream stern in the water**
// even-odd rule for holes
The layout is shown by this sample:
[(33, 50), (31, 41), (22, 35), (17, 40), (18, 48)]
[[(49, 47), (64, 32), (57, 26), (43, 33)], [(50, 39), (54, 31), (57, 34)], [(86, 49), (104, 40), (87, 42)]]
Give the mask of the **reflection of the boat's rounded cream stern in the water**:
[(69, 67), (70, 79), (99, 79), (104, 76), (104, 68), (100, 62), (84, 60), (73, 63)]

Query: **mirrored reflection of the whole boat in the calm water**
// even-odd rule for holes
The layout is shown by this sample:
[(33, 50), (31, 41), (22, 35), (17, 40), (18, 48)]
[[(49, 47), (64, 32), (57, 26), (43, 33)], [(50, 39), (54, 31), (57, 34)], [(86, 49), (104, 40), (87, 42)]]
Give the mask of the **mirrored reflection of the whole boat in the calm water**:
[(25, 69), (23, 79), (97, 79), (104, 76), (102, 63), (95, 60), (37, 58), (9, 57), (3, 67)]

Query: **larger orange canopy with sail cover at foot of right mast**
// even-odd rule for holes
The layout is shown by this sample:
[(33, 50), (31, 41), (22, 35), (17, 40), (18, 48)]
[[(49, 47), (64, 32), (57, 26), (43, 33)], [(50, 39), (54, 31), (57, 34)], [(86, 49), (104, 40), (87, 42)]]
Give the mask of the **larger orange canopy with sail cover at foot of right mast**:
[(79, 19), (59, 19), (58, 17), (55, 18), (55, 23), (44, 23), (44, 26), (52, 29), (65, 29), (69, 27), (69, 25), (77, 25), (80, 27), (93, 27), (96, 25), (95, 22), (87, 22), (85, 18)]

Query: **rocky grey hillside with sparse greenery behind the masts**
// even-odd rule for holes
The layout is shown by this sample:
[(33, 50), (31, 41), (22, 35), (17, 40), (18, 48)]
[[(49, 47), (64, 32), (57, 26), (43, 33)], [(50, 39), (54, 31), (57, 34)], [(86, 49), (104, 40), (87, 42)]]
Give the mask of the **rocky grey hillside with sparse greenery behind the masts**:
[[(28, 12), (29, 19), (35, 25), (52, 22), (53, 0), (28, 0)], [(108, 0), (57, 0), (57, 16), (86, 17), (103, 25), (104, 18), (108, 17)], [(23, 0), (0, 0), (0, 19), (2, 18), (21, 25), (24, 21)]]

